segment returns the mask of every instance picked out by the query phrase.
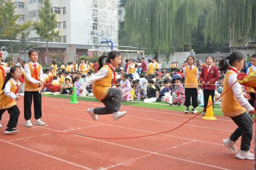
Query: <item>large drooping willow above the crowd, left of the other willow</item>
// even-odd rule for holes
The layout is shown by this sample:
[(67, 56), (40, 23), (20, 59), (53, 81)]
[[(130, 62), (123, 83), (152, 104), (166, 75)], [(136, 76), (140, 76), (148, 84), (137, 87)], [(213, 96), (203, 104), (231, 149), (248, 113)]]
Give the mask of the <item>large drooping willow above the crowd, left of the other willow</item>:
[(128, 0), (125, 4), (128, 38), (154, 52), (165, 53), (177, 44), (190, 43), (200, 4), (200, 0)]

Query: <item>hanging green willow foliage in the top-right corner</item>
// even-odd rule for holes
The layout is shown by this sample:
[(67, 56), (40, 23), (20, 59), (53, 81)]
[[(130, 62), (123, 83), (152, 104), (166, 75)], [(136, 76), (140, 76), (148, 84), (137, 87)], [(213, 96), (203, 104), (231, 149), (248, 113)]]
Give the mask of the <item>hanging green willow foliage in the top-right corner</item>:
[(256, 39), (256, 0), (215, 0), (204, 33), (205, 43), (211, 44)]

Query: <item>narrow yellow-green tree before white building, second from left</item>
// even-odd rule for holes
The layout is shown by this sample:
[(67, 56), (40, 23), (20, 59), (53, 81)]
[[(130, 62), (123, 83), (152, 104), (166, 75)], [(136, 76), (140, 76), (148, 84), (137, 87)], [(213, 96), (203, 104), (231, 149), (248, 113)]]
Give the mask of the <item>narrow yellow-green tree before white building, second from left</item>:
[(51, 4), (50, 0), (43, 0), (44, 7), (39, 9), (38, 17), (33, 26), (36, 30), (36, 33), (45, 39), (46, 41), (46, 51), (48, 56), (48, 42), (54, 40), (55, 37), (59, 37), (60, 31), (55, 31), (57, 20), (56, 14), (51, 13)]

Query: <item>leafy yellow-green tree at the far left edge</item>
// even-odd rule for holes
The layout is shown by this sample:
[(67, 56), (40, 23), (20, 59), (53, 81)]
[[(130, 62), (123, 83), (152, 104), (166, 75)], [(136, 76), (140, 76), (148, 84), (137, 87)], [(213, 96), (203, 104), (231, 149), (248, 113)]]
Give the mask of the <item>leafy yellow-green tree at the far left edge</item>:
[[(15, 15), (15, 6), (11, 0), (5, 0), (0, 2), (0, 35), (5, 39), (11, 40), (10, 48), (12, 54), (12, 40), (22, 32), (28, 29), (31, 22), (28, 21), (24, 24), (17, 24), (20, 15)], [(2, 24), (3, 25), (2, 25)]]

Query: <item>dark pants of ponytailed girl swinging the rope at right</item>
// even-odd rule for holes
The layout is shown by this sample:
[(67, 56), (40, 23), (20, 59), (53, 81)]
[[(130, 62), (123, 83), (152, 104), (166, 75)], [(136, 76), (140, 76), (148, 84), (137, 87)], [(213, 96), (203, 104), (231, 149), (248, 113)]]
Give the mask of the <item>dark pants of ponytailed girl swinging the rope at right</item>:
[(241, 138), (240, 149), (243, 151), (250, 150), (252, 141), (252, 125), (253, 121), (251, 116), (243, 113), (239, 116), (230, 117), (238, 126), (238, 128), (230, 135), (232, 141), (237, 141), (239, 137)]

